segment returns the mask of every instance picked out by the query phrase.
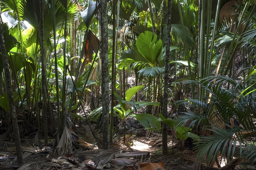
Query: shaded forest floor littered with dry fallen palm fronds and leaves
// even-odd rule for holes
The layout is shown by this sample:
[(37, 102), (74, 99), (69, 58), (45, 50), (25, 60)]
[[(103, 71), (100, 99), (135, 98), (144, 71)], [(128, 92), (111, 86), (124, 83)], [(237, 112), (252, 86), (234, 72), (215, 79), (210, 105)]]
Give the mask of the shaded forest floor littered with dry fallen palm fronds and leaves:
[[(49, 139), (44, 147), (44, 139), (28, 136), (21, 139), (23, 166), (17, 165), (15, 142), (12, 139), (0, 140), (0, 170), (255, 170), (247, 165), (206, 167), (196, 161), (195, 153), (187, 143), (168, 136), (169, 154), (162, 155), (161, 134), (145, 130), (136, 119), (127, 121), (125, 143), (122, 128), (114, 133), (109, 150), (99, 149), (90, 132), (89, 125), (77, 122), (72, 128), (73, 152), (58, 157), (54, 153), (55, 139)], [(96, 124), (91, 125), (96, 129)], [(99, 131), (94, 130), (101, 139)], [(170, 132), (170, 131), (169, 131)], [(169, 133), (171, 134), (171, 133)], [(173, 141), (173, 143), (172, 143)], [(95, 143), (95, 144), (93, 144)], [(99, 143), (101, 143), (99, 141)], [(224, 162), (223, 165), (224, 166)]]

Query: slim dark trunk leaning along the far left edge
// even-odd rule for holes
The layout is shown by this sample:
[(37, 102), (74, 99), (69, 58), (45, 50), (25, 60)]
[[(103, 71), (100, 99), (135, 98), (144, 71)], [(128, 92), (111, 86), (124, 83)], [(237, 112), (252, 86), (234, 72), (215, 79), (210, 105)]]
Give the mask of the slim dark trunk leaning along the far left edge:
[(17, 122), (16, 108), (15, 108), (13, 91), (12, 91), (12, 79), (9, 71), (9, 63), (7, 59), (6, 47), (5, 47), (3, 30), (1, 25), (2, 25), (2, 20), (0, 20), (0, 42), (1, 42), (0, 51), (2, 53), (2, 59), (3, 59), (4, 74), (5, 74), (6, 86), (7, 86), (6, 88), (7, 88), (8, 98), (9, 98), (9, 105), (10, 105), (10, 114), (12, 115), (12, 125), (13, 125), (14, 137), (15, 137), (17, 163), (23, 164), (23, 158), (22, 158), (21, 146), (20, 146), (20, 132), (19, 132), (19, 127)]

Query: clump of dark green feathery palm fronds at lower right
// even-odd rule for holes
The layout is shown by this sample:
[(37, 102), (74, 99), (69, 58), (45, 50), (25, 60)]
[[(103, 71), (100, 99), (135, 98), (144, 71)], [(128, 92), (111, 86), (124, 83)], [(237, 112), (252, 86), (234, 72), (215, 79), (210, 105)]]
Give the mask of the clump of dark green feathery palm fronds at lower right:
[[(243, 87), (235, 80), (220, 75), (185, 83), (195, 83), (204, 88), (205, 96), (201, 99), (176, 102), (177, 105), (186, 105), (187, 110), (180, 113), (177, 122), (200, 135), (200, 139), (193, 142), (198, 159), (203, 161), (206, 157), (206, 163), (212, 164), (220, 155), (227, 162), (234, 157), (255, 162), (255, 144), (246, 140), (256, 132), (253, 124), (255, 104), (251, 102), (256, 96), (253, 85)], [(239, 127), (230, 126), (232, 117), (240, 122)]]

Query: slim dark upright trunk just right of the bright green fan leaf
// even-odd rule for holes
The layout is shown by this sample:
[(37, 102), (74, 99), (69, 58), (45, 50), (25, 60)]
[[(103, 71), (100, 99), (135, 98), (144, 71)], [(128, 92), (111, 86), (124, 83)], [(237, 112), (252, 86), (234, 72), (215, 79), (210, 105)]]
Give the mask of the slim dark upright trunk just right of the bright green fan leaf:
[[(168, 72), (169, 72), (169, 57), (170, 57), (170, 44), (171, 44), (171, 21), (172, 21), (172, 0), (168, 0), (168, 11), (167, 11), (167, 40), (166, 40), (166, 59), (164, 63), (164, 87), (163, 87), (163, 116), (168, 117), (167, 106), (168, 106)], [(162, 128), (162, 152), (164, 155), (168, 154), (167, 145), (167, 125), (163, 122)]]

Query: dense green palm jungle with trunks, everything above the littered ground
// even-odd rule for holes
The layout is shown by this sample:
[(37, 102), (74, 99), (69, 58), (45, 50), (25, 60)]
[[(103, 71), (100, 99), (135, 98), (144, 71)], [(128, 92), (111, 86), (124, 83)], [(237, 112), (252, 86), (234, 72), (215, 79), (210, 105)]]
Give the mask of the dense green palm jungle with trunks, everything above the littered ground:
[(39, 130), (45, 146), (55, 136), (62, 155), (80, 119), (101, 125), (108, 149), (114, 119), (125, 127), (129, 116), (163, 133), (163, 154), (169, 128), (209, 165), (219, 151), (255, 163), (254, 0), (0, 0), (0, 10), (0, 137), (14, 134), (19, 163), (20, 136)]

